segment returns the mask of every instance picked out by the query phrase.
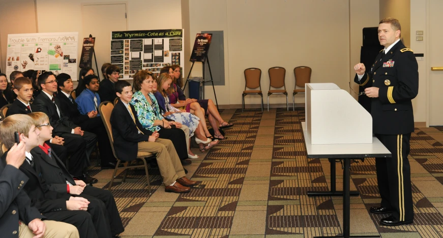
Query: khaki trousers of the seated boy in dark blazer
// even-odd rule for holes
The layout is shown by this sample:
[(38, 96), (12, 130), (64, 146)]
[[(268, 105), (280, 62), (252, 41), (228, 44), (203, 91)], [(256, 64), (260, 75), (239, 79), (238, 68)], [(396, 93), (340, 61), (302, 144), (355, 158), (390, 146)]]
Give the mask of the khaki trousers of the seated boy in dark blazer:
[(182, 162), (170, 140), (158, 138), (155, 142), (139, 142), (138, 151), (156, 155), (160, 175), (165, 186), (171, 185), (175, 180), (186, 175)]

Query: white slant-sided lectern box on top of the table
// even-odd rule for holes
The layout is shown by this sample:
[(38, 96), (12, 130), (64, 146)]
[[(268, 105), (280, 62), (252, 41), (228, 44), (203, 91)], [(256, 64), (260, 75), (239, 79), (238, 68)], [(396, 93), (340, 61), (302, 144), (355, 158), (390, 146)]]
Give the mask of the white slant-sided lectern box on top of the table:
[(370, 144), (372, 117), (333, 83), (306, 84), (306, 131), (313, 145)]

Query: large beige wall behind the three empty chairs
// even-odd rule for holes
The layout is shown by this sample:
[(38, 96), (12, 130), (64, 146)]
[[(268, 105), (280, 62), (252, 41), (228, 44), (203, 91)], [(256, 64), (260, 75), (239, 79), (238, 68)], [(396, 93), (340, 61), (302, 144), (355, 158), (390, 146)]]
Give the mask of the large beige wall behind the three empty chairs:
[[(312, 82), (334, 82), (348, 88), (348, 0), (194, 0), (190, 1), (190, 12), (191, 36), (202, 30), (224, 30), (226, 84), (216, 86), (219, 104), (241, 104), (243, 71), (248, 67), (262, 70), (263, 91), (269, 89), (268, 69), (282, 66), (286, 89), (292, 92), (292, 70), (300, 65), (312, 67)], [(194, 68), (193, 76), (201, 76), (200, 65)], [(213, 98), (211, 91), (206, 88), (209, 98)], [(259, 101), (259, 97), (246, 98), (246, 104)], [(271, 102), (285, 103), (285, 97), (272, 96)], [(304, 96), (297, 102), (303, 103)]]

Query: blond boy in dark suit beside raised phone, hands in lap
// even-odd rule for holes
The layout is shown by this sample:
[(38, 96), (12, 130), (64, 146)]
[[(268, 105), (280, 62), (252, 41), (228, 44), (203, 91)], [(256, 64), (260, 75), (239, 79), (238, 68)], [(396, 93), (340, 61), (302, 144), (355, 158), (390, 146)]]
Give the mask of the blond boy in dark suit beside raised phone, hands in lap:
[[(21, 164), (19, 169), (24, 176), (23, 178), (26, 179), (20, 182), (18, 182), (19, 180), (16, 180), (14, 183), (17, 183), (17, 185), (13, 186), (15, 192), (22, 194), (20, 195), (20, 198), (23, 198), (23, 202), (21, 203), (20, 200), (20, 204), (23, 205), (23, 207), (20, 206), (19, 208), (26, 208), (26, 206), (35, 207), (38, 210), (38, 213), (47, 220), (66, 222), (74, 225), (77, 227), (80, 237), (96, 238), (97, 233), (94, 228), (92, 216), (86, 212), (86, 210), (92, 209), (88, 206), (89, 201), (87, 201), (87, 199), (49, 191), (46, 184), (40, 183), (41, 178), (33, 168), (35, 163), (30, 154), (31, 149), (38, 146), (38, 137), (40, 134), (40, 131), (34, 124), (35, 123), (31, 117), (21, 114), (9, 116), (3, 121), (3, 123), (0, 123), (0, 138), (5, 147), (9, 149), (2, 156), (3, 164), (5, 164), (5, 161), (8, 161), (7, 158), (9, 153), (15, 153), (12, 149), (15, 141), (15, 131), (19, 133), (20, 142), (22, 142), (25, 147), (25, 157), (21, 158), (22, 161), (19, 162)], [(23, 162), (24, 159), (26, 159), (25, 162)], [(18, 164), (16, 164), (16, 166), (18, 166)], [(2, 192), (1, 194), (3, 195), (5, 193)], [(28, 196), (27, 199), (23, 195), (26, 197)], [(22, 212), (25, 211), (23, 210)], [(13, 212), (8, 212), (7, 214), (15, 215)], [(18, 216), (22, 215), (20, 210), (19, 213), (16, 214)], [(5, 216), (1, 218), (2, 221), (4, 217)], [(31, 218), (23, 219), (25, 219), (23, 222), (29, 222), (29, 219)], [(14, 218), (11, 219), (11, 221), (8, 220), (7, 223), (1, 222), (0, 227), (2, 227), (2, 230), (4, 227), (3, 224), (12, 224), (12, 221), (14, 221)], [(16, 221), (14, 223), (18, 224)], [(59, 224), (60, 223), (57, 223), (57, 225)], [(12, 224), (11, 227), (16, 226)], [(5, 228), (9, 230), (11, 227)], [(68, 226), (63, 225), (60, 228), (62, 227), (70, 229)], [(4, 234), (5, 233), (2, 232), (2, 235)], [(59, 236), (60, 233), (57, 233), (55, 237)]]

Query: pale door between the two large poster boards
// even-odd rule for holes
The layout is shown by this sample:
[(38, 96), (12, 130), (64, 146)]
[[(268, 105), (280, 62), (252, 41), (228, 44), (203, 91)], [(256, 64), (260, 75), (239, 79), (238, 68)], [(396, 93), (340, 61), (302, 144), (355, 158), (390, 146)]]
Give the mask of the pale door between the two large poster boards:
[[(97, 56), (98, 69), (103, 63), (110, 62), (111, 55), (111, 31), (127, 30), (126, 23), (126, 4), (125, 3), (91, 3), (83, 4), (81, 8), (81, 17), (83, 24), (83, 36), (89, 37), (91, 34), (96, 38), (94, 51)], [(93, 69), (97, 71), (93, 59)], [(101, 72), (100, 79), (103, 79)]]

